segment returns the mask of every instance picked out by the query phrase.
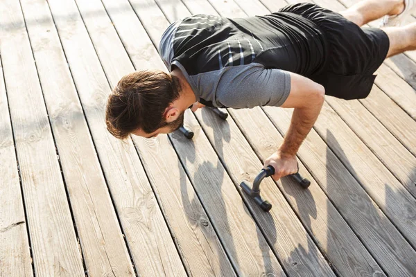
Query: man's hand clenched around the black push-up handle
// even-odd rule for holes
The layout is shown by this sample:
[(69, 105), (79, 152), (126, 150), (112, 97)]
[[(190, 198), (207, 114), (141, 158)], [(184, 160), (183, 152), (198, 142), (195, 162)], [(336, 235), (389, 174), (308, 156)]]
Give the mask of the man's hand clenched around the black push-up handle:
[(275, 174), (272, 175), (275, 181), (286, 175), (297, 173), (296, 156), (282, 154), (279, 150), (266, 159), (264, 168), (268, 166), (275, 168)]

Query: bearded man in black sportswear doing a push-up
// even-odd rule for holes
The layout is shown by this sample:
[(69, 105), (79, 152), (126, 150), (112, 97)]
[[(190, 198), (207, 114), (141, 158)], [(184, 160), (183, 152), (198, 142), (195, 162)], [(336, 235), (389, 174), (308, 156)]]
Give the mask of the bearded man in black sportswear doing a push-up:
[[(398, 27), (413, 1), (367, 0), (339, 14), (300, 3), (263, 17), (177, 21), (159, 45), (170, 73), (125, 75), (108, 98), (107, 129), (119, 139), (151, 138), (180, 127), (190, 106), (295, 108), (284, 142), (264, 164), (275, 180), (293, 174), (324, 94), (365, 98), (385, 57), (416, 49), (416, 24)], [(360, 28), (383, 16), (390, 27)]]

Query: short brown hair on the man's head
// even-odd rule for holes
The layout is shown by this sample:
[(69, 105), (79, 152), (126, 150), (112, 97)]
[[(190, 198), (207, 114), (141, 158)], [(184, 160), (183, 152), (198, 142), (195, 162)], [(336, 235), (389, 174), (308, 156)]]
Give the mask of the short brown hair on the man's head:
[(105, 123), (118, 139), (137, 129), (150, 134), (167, 125), (165, 109), (179, 98), (179, 79), (163, 71), (135, 71), (125, 75), (107, 100)]

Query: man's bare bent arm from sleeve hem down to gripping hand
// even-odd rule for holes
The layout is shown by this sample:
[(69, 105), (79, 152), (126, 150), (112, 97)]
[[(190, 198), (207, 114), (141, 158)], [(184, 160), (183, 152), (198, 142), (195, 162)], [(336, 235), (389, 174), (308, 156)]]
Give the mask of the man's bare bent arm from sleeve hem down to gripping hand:
[(291, 91), (280, 107), (295, 108), (291, 125), (277, 152), (264, 163), (265, 168), (269, 165), (275, 168), (275, 175), (272, 175), (275, 180), (297, 172), (297, 150), (311, 131), (324, 103), (325, 91), (321, 84), (295, 73), (289, 74)]

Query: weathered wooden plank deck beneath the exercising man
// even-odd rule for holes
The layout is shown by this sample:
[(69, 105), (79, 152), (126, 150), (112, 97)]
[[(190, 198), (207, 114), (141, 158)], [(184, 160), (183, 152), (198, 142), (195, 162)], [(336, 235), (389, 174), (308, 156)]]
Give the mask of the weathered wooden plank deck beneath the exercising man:
[(312, 185), (263, 181), (270, 213), (239, 184), (291, 110), (187, 111), (192, 140), (105, 129), (121, 76), (166, 70), (171, 22), (286, 4), (0, 1), (0, 276), (416, 276), (416, 51), (387, 60), (365, 100), (326, 98), (298, 154)]

